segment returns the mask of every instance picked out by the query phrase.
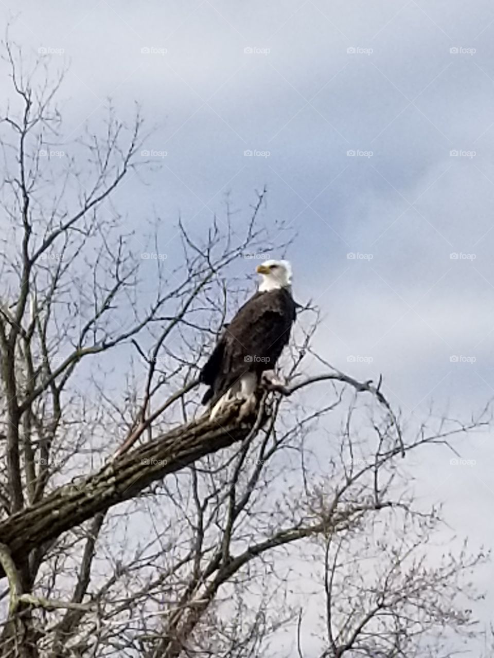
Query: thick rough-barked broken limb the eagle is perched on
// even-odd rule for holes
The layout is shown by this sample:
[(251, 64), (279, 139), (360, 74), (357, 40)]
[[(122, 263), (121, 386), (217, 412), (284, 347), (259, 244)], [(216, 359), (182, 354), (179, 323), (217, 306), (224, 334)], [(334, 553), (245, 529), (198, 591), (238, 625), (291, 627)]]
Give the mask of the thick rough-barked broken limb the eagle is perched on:
[[(219, 418), (221, 423), (202, 417), (178, 426), (79, 482), (55, 489), (36, 505), (0, 523), (0, 542), (13, 555), (26, 555), (97, 513), (136, 496), (151, 482), (246, 438), (254, 422), (239, 423), (237, 412), (234, 405), (226, 417)], [(5, 575), (3, 570), (0, 575)]]

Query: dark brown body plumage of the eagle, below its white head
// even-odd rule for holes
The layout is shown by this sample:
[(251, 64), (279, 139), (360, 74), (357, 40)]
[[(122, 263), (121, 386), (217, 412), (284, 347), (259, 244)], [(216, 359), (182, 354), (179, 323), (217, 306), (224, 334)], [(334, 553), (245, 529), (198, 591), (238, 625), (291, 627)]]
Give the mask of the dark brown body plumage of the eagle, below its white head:
[(288, 288), (256, 292), (223, 330), (200, 379), (211, 388), (203, 404), (221, 397), (246, 372), (276, 365), (290, 338), (296, 304)]

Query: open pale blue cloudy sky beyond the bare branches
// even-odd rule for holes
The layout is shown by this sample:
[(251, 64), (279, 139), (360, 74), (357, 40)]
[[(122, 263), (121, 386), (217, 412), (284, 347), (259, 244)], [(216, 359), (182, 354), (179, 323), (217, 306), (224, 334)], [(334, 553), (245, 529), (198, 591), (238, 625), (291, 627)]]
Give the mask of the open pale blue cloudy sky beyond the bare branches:
[[(179, 213), (200, 233), (225, 192), (247, 209), (266, 184), (265, 221), (296, 233), (294, 291), (321, 308), (325, 358), (358, 377), (382, 373), (406, 418), (431, 402), (464, 417), (493, 397), (492, 3), (26, 1), (19, 11), (4, 1), (0, 11), (23, 49), (69, 65), (68, 139), (102, 120), (108, 97), (124, 120), (137, 101), (155, 128), (146, 149), (160, 168), (117, 195), (128, 226), (159, 215), (172, 254)], [(431, 454), (424, 494), (446, 501), (458, 535), (491, 545), (489, 434), (458, 449), (476, 464)]]

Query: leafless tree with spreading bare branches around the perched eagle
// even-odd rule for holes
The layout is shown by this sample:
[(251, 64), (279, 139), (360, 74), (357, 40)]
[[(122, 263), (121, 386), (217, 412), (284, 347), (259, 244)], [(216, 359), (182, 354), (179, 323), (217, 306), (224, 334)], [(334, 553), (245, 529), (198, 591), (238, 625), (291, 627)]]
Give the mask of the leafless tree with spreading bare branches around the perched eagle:
[(9, 41), (5, 57), (2, 655), (274, 656), (283, 637), (304, 655), (317, 600), (321, 656), (452, 655), (450, 634), (473, 632), (462, 576), (484, 556), (426, 561), (439, 515), (416, 509), (401, 463), (488, 410), (404, 437), (381, 382), (313, 353), (308, 304), (286, 385), (242, 423), (235, 405), (209, 420), (198, 364), (246, 294), (234, 266), (289, 243), (262, 227), (265, 190), (201, 236), (178, 222), (168, 268), (159, 222), (136, 246), (111, 205), (147, 164), (139, 114), (128, 127), (109, 107), (103, 136), (59, 158), (63, 74), (50, 84), (44, 59), (25, 74)]

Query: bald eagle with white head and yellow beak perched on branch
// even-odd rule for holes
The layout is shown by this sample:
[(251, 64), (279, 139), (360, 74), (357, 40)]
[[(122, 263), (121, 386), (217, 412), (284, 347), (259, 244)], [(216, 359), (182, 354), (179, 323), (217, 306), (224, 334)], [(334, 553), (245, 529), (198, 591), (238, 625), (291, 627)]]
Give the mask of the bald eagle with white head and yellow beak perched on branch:
[(202, 403), (211, 407), (211, 418), (235, 398), (246, 401), (244, 413), (252, 409), (263, 372), (273, 370), (290, 338), (297, 307), (290, 263), (265, 261), (256, 271), (258, 291), (225, 325), (201, 370), (200, 382), (209, 386)]

